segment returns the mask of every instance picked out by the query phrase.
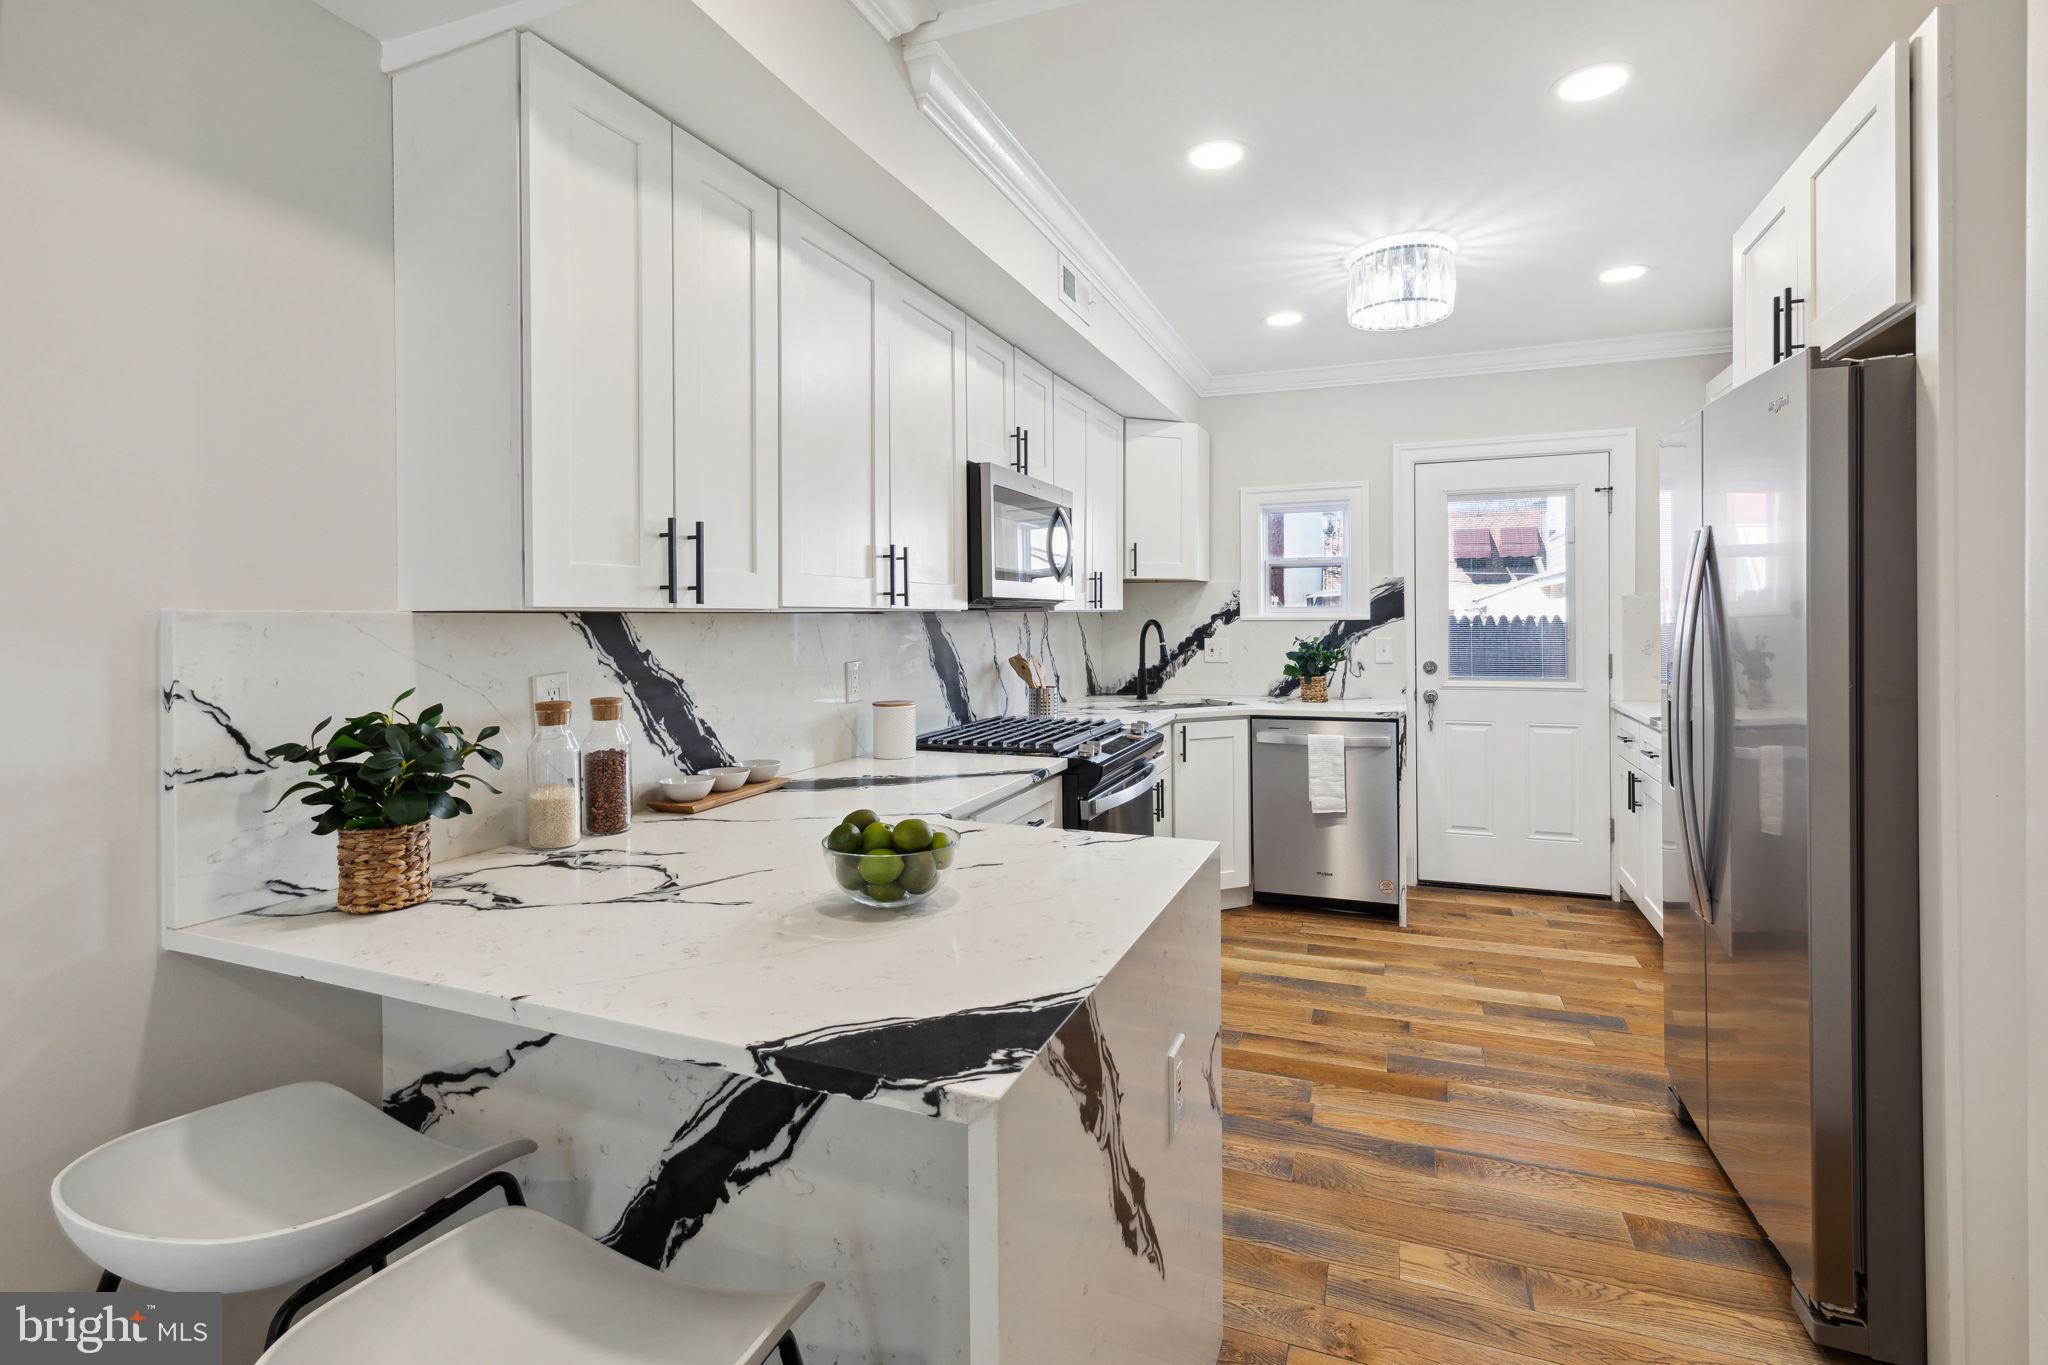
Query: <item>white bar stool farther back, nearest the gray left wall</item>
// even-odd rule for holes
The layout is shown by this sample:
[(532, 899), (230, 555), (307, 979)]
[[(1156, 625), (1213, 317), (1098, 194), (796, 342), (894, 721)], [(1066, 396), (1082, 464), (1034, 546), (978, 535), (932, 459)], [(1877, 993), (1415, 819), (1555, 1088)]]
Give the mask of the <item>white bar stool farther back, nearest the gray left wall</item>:
[[(242, 1293), (303, 1285), (270, 1324), (492, 1189), (535, 1150), (526, 1138), (469, 1152), (416, 1134), (348, 1091), (307, 1081), (137, 1128), (49, 1185), (57, 1224), (104, 1267), (100, 1289)], [(393, 1234), (403, 1232), (397, 1240)]]

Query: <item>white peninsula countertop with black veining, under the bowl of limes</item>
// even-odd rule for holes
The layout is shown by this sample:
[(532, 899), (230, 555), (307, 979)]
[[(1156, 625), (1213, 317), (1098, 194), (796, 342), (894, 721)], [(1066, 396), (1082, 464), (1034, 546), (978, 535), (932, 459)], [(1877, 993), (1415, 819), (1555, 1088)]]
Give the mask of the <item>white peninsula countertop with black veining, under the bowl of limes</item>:
[(172, 952), (969, 1119), (997, 1101), (1214, 845), (963, 825), (954, 868), (893, 913), (819, 849), (858, 806), (979, 810), (1053, 759), (850, 759), (627, 835), (436, 864), (387, 915), (332, 898), (164, 929)]

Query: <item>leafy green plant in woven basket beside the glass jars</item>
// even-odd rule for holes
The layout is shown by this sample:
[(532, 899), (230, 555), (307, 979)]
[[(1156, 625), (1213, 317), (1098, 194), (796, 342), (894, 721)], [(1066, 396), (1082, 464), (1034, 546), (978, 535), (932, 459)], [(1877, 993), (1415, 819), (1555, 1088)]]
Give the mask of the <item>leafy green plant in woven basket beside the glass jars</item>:
[(465, 774), (471, 757), (504, 767), (504, 755), (483, 741), (498, 735), (485, 724), (475, 739), (444, 722), (440, 704), (408, 716), (397, 694), (389, 710), (348, 716), (338, 731), (319, 737), (334, 716), (313, 726), (303, 745), (272, 745), (264, 753), (285, 763), (309, 763), (307, 782), (285, 788), (270, 810), (293, 792), (311, 792), (299, 804), (313, 806), (313, 833), (340, 835), (336, 866), (340, 882), (334, 907), (350, 915), (397, 911), (420, 905), (434, 892), (434, 843), (428, 821), (469, 814), (457, 790), (483, 778)]

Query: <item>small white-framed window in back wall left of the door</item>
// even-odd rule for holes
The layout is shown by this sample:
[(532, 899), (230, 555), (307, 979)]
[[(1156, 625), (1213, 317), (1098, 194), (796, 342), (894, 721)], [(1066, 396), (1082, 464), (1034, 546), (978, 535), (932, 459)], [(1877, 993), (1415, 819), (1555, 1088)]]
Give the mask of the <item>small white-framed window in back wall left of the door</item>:
[(1243, 614), (1346, 620), (1366, 573), (1366, 485), (1243, 491)]

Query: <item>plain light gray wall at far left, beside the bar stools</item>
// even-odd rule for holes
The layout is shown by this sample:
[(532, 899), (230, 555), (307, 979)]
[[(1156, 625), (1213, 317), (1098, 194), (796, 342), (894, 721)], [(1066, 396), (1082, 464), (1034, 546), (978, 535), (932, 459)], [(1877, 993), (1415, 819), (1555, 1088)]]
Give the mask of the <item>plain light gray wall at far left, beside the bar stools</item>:
[(395, 602), (377, 49), (311, 0), (4, 0), (0, 186), (0, 1283), (61, 1289), (78, 1152), (377, 1085), (375, 1001), (158, 952), (154, 774), (158, 608)]

